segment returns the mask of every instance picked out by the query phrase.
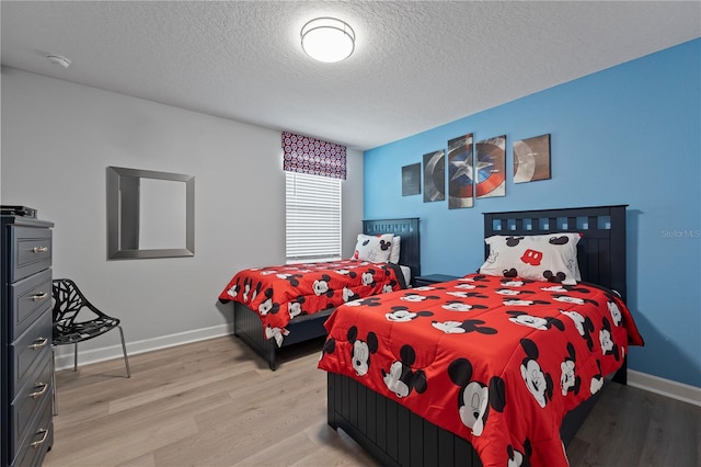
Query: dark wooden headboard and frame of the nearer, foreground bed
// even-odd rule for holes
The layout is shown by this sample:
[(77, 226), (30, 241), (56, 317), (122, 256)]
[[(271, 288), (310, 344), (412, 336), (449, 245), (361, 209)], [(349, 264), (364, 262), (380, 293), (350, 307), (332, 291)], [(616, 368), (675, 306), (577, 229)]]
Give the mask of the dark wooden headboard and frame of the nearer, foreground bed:
[[(577, 260), (583, 282), (614, 289), (625, 299), (625, 207), (577, 207), (485, 213), (484, 237), (582, 232)], [(485, 248), (485, 258), (489, 248)], [(625, 384), (627, 363), (613, 376)], [(600, 394), (600, 392), (599, 392)], [(565, 446), (598, 398), (570, 411), (560, 435)], [(355, 379), (327, 374), (327, 421), (342, 429), (383, 466), (482, 466), (470, 443), (422, 419)]]

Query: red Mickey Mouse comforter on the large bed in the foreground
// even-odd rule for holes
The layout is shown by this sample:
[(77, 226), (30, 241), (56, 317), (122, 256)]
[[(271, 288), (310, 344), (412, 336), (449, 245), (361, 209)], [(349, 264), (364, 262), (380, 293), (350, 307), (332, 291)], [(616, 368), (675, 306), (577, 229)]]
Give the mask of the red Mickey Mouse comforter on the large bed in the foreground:
[[(319, 367), (468, 440), (484, 466), (566, 466), (565, 413), (642, 345), (596, 286), (472, 274), (338, 307)], [(530, 464), (528, 464), (530, 463)]]

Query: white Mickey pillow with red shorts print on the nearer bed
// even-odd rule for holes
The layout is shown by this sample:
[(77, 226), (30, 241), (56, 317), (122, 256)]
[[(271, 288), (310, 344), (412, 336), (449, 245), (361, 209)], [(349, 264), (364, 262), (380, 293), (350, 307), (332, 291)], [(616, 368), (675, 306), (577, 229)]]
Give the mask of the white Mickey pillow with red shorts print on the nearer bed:
[(581, 234), (492, 236), (481, 274), (522, 277), (573, 285), (581, 281), (577, 242)]

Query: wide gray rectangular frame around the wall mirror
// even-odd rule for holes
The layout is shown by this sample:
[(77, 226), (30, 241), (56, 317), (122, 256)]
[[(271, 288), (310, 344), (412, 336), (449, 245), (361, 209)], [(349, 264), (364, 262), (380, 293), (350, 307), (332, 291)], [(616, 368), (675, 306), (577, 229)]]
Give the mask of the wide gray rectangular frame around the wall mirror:
[[(119, 244), (122, 216), (119, 192), (123, 178), (185, 182), (185, 248), (126, 250)], [(195, 255), (195, 176), (153, 170), (107, 167), (107, 259), (176, 258)]]

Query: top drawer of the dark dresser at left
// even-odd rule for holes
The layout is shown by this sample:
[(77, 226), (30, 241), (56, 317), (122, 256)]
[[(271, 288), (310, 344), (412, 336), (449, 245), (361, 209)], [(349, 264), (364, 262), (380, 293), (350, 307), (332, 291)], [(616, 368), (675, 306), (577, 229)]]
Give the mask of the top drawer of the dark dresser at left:
[(51, 265), (51, 230), (34, 227), (10, 227), (12, 264), (10, 282), (19, 281)]

